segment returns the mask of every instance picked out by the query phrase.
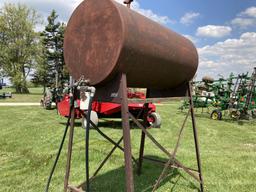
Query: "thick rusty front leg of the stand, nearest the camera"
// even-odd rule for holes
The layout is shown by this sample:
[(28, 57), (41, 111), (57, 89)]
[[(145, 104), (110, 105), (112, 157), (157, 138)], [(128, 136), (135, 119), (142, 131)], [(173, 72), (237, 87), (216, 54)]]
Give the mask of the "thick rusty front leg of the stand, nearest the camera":
[(130, 136), (130, 124), (129, 124), (129, 109), (127, 99), (127, 81), (126, 75), (122, 74), (120, 84), (121, 94), (121, 111), (122, 111), (122, 127), (124, 136), (124, 159), (125, 159), (125, 179), (126, 179), (126, 191), (133, 192), (133, 169), (132, 169), (132, 155), (131, 155), (131, 136)]

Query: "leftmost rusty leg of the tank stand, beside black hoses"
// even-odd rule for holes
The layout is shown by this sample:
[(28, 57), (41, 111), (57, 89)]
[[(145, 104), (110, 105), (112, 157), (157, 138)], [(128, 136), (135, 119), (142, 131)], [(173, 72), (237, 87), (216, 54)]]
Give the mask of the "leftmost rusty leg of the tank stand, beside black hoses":
[(66, 165), (66, 175), (64, 180), (64, 192), (68, 189), (68, 181), (70, 175), (70, 165), (72, 157), (72, 146), (73, 146), (73, 137), (74, 137), (74, 124), (75, 124), (75, 109), (71, 109), (71, 121), (70, 121), (70, 130), (69, 130), (69, 141), (68, 141), (68, 154), (67, 154), (67, 165)]

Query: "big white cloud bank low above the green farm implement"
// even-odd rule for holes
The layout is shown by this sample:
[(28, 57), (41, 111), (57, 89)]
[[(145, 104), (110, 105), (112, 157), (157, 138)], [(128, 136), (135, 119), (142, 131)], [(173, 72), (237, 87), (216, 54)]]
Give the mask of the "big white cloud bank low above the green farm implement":
[(199, 71), (217, 77), (252, 71), (256, 67), (256, 33), (243, 33), (238, 39), (227, 39), (214, 45), (198, 48)]

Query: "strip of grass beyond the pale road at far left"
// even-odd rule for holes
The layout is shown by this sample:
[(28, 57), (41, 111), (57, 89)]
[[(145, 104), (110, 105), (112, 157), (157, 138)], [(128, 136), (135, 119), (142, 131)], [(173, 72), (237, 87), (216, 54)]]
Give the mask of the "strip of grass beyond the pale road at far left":
[(12, 98), (0, 99), (0, 102), (40, 102), (42, 98), (43, 88), (29, 88), (29, 94), (16, 94), (13, 88), (3, 88), (0, 93), (12, 92)]

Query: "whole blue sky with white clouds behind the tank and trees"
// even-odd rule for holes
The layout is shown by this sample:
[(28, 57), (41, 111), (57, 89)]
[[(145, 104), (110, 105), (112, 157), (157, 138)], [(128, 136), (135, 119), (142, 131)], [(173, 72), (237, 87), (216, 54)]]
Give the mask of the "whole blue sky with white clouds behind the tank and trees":
[[(81, 1), (0, 0), (0, 6), (24, 3), (45, 21), (55, 9), (67, 22)], [(256, 67), (256, 0), (134, 0), (132, 9), (194, 42), (199, 53), (197, 79), (251, 72)]]

